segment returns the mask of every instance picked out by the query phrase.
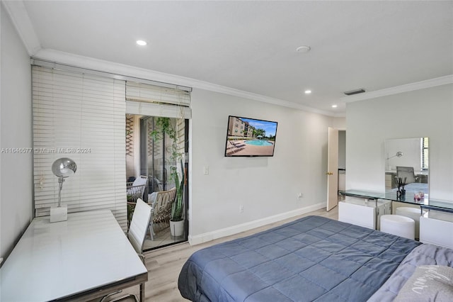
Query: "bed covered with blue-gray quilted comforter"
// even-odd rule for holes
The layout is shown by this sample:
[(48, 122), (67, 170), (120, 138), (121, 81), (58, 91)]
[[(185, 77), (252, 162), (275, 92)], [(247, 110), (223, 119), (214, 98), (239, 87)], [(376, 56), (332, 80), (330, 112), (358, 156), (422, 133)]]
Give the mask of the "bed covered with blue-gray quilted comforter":
[[(307, 216), (195, 252), (181, 269), (178, 289), (191, 301), (391, 301), (398, 286), (384, 284), (401, 271), (406, 256), (424, 246), (428, 245)], [(438, 253), (439, 263), (431, 257), (426, 264), (451, 267), (451, 252), (444, 248)], [(399, 287), (419, 259), (416, 256), (400, 272)]]

